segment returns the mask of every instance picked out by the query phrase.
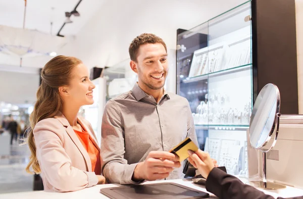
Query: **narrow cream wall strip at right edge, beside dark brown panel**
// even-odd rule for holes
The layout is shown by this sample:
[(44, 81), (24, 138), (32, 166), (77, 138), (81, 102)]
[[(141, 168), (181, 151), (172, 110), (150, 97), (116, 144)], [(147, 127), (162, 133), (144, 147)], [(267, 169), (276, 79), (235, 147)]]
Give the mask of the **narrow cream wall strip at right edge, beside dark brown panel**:
[(303, 0), (295, 0), (299, 114), (303, 114)]

